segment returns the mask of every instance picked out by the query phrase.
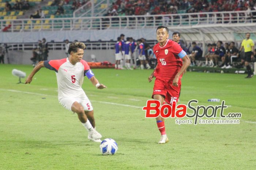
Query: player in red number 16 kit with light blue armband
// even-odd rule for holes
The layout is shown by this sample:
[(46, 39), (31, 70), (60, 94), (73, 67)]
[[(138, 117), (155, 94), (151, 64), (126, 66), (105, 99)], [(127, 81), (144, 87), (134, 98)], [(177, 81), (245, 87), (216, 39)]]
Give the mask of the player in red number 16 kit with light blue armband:
[[(164, 26), (157, 27), (158, 44), (153, 48), (157, 57), (157, 67), (148, 77), (148, 82), (151, 82), (155, 77), (152, 98), (160, 101), (161, 104), (166, 102), (171, 105), (173, 101), (178, 101), (182, 74), (188, 68), (190, 60), (181, 46), (168, 38), (168, 28)], [(161, 133), (161, 139), (158, 144), (167, 143), (169, 139), (165, 132), (164, 118), (159, 116), (156, 119)]]

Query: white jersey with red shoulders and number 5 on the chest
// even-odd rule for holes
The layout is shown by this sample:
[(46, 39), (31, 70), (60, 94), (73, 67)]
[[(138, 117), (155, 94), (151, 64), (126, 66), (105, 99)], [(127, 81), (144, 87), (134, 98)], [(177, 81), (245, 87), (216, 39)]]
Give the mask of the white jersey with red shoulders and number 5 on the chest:
[[(64, 97), (86, 97), (82, 89), (83, 79), (87, 72), (92, 73), (86, 61), (81, 60), (73, 65), (68, 58), (63, 58), (61, 60), (44, 61), (44, 66), (56, 72), (59, 99)], [(90, 74), (88, 78), (92, 76), (93, 74)]]

